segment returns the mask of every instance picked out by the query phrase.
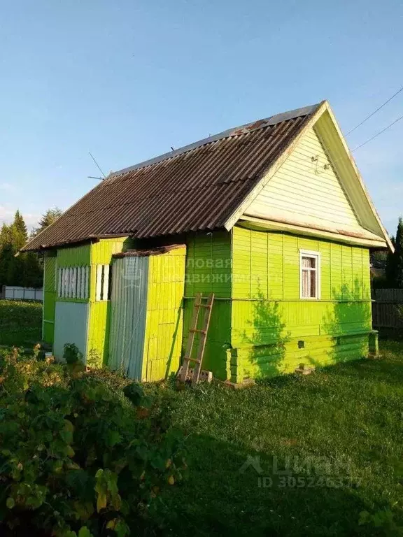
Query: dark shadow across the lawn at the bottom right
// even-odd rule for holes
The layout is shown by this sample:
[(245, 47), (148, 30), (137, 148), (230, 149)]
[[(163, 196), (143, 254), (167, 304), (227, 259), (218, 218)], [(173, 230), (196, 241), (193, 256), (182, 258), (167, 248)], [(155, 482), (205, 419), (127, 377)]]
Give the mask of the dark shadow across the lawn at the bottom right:
[[(279, 475), (287, 461), (270, 454), (195, 434), (188, 445), (190, 478), (164, 498), (169, 519), (165, 530), (171, 534), (369, 535), (358, 520), (361, 511), (374, 506), (362, 499), (357, 482), (346, 471), (309, 475), (295, 473), (291, 465), (290, 473)], [(255, 467), (246, 467), (248, 461)]]

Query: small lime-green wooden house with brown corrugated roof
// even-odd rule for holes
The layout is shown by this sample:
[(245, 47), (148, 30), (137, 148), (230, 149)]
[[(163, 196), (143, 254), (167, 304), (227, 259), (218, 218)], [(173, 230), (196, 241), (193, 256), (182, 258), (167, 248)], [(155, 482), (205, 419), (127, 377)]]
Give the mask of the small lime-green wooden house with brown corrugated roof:
[(24, 251), (57, 358), (160, 380), (214, 292), (203, 368), (239, 384), (376, 352), (372, 248), (393, 247), (323, 101), (111, 173)]

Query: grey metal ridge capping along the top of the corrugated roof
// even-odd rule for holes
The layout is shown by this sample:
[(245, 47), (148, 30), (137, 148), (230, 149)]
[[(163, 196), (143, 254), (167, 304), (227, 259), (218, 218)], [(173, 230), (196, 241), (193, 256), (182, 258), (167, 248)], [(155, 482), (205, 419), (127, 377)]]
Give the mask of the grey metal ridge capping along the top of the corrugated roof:
[(206, 145), (207, 143), (221, 140), (222, 138), (229, 138), (229, 136), (239, 136), (240, 134), (246, 134), (247, 132), (254, 131), (256, 129), (264, 129), (265, 127), (269, 127), (270, 125), (275, 125), (283, 121), (292, 120), (292, 119), (295, 119), (296, 117), (309, 115), (315, 112), (319, 108), (319, 106), (323, 104), (323, 102), (324, 101), (321, 101), (320, 103), (312, 104), (310, 106), (304, 106), (303, 108), (295, 108), (295, 110), (288, 110), (288, 112), (282, 112), (279, 114), (271, 115), (270, 117), (266, 117), (263, 120), (256, 120), (250, 123), (246, 123), (244, 125), (241, 125), (240, 127), (232, 127), (232, 129), (227, 129), (218, 134), (213, 134), (213, 136), (208, 136), (208, 138), (202, 138), (201, 140), (197, 142), (193, 142), (188, 145), (183, 145), (182, 148), (178, 148), (174, 151), (163, 153), (162, 155), (158, 155), (157, 157), (144, 160), (142, 162), (139, 162), (138, 164), (134, 164), (134, 166), (129, 166), (127, 168), (114, 171), (108, 175), (106, 180), (110, 178), (115, 178), (117, 176), (121, 176), (123, 173), (128, 173), (129, 171), (146, 168), (147, 166), (151, 166), (152, 164), (157, 164), (158, 162), (163, 162), (164, 160), (172, 159), (174, 157), (177, 157), (178, 155), (182, 155), (185, 152), (191, 151), (193, 149), (197, 149), (201, 147), (202, 145)]

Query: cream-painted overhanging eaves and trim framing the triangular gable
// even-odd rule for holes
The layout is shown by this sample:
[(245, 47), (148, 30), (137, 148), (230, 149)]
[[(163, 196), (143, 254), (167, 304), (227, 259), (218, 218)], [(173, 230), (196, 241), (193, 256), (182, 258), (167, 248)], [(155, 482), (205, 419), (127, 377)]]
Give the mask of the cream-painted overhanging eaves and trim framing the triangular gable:
[[(332, 109), (330, 108), (330, 105), (327, 101), (323, 101), (322, 103), (320, 103), (320, 106), (318, 106), (316, 113), (313, 114), (309, 122), (306, 122), (302, 131), (300, 131), (299, 134), (290, 142), (288, 147), (283, 150), (281, 155), (278, 157), (278, 159), (276, 159), (275, 162), (271, 164), (269, 169), (264, 171), (264, 173), (262, 174), (262, 178), (257, 182), (255, 187), (253, 187), (249, 194), (243, 199), (243, 201), (239, 204), (236, 210), (234, 210), (232, 215), (228, 217), (227, 221), (225, 222), (225, 228), (229, 231), (230, 229), (232, 229), (232, 227), (234, 227), (236, 222), (239, 222), (239, 220), (243, 220), (244, 222), (247, 220), (260, 220), (259, 224), (262, 224), (262, 222), (266, 220), (262, 218), (253, 219), (251, 215), (247, 214), (247, 209), (250, 206), (250, 203), (252, 203), (253, 200), (258, 196), (258, 194), (262, 192), (262, 189), (264, 189), (264, 187), (271, 180), (271, 178), (273, 178), (274, 174), (288, 159), (292, 151), (296, 148), (299, 141), (301, 141), (302, 137), (311, 128), (315, 129), (318, 138), (320, 139), (321, 143), (323, 144), (323, 147), (325, 148), (325, 151), (327, 152), (327, 156), (329, 157), (330, 162), (332, 162), (332, 166), (334, 166), (337, 175), (341, 179), (342, 187), (344, 189), (346, 197), (351, 203), (351, 206), (354, 210), (358, 222), (360, 223), (360, 226), (363, 228), (363, 230), (368, 231), (369, 234), (372, 235), (371, 239), (358, 237), (355, 237), (355, 239), (365, 242), (369, 241), (371, 243), (361, 243), (362, 245), (367, 245), (371, 248), (389, 248), (390, 251), (393, 252), (394, 247), (390, 241), (388, 232), (383, 227), (381, 219), (376, 212), (376, 209), (367, 192), (360, 172), (358, 171), (358, 167), (355, 164), (353, 155), (351, 155), (351, 151), (348, 149), (348, 145), (346, 144), (343, 134), (341, 134), (341, 130), (339, 128), (339, 125), (337, 124), (337, 120), (334, 117)], [(329, 149), (330, 147), (332, 148), (332, 150)], [(269, 219), (267, 219), (267, 222), (269, 222), (269, 225), (274, 224), (274, 221), (271, 221)], [(294, 224), (292, 223), (278, 222), (277, 220), (275, 223), (278, 226), (288, 226), (288, 231), (291, 231), (291, 227), (296, 228), (293, 229), (294, 232), (297, 232), (298, 230), (302, 231), (302, 229), (305, 229), (306, 233), (309, 229), (311, 229), (311, 234), (318, 235), (319, 231), (314, 227), (311, 228), (311, 225), (309, 225), (309, 227), (302, 227), (300, 225), (294, 226)], [(344, 234), (343, 232), (337, 231), (334, 233), (333, 231), (326, 231), (324, 229), (320, 231), (323, 233), (330, 233), (334, 235), (334, 240), (335, 237), (337, 237), (337, 240), (341, 242), (346, 241), (346, 239), (344, 238), (346, 237), (346, 234)]]

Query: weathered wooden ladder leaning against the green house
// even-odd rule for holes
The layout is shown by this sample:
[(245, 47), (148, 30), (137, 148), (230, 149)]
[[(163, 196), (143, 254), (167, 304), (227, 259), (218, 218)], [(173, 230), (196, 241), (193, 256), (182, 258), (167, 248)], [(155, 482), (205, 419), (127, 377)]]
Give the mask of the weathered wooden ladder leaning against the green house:
[[(192, 375), (192, 384), (199, 382), (201, 362), (203, 361), (204, 348), (206, 347), (206, 339), (208, 327), (210, 325), (211, 309), (213, 308), (214, 293), (208, 295), (207, 302), (203, 303), (203, 297), (201, 293), (196, 294), (195, 304), (193, 306), (192, 321), (190, 322), (188, 346), (186, 348), (185, 357), (183, 359), (183, 366), (180, 371), (179, 378), (183, 382), (188, 378), (188, 371), (190, 362), (195, 363)], [(199, 320), (200, 308), (206, 308), (204, 313), (203, 326), (201, 329), (197, 329), (197, 321)], [(199, 348), (197, 349), (196, 358), (192, 358), (193, 344), (195, 343), (195, 335), (200, 334)]]

